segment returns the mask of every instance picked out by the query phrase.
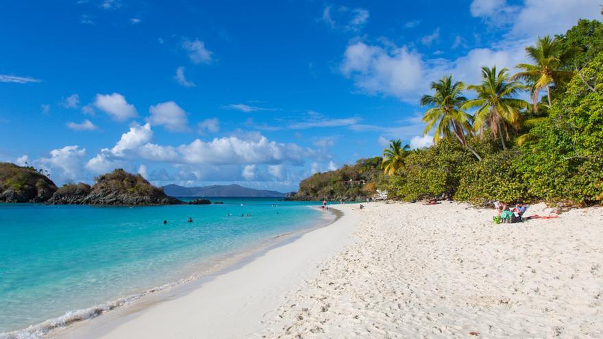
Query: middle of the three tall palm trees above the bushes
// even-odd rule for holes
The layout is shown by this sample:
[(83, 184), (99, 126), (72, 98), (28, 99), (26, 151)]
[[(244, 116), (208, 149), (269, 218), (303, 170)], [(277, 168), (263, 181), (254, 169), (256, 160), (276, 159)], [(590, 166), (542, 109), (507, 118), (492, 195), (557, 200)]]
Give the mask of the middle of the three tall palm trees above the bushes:
[(508, 69), (502, 68), (496, 73), (496, 66), (482, 67), (482, 83), (467, 87), (475, 90), (478, 97), (468, 100), (461, 106), (462, 110), (478, 108), (473, 116), (473, 127), (483, 135), (484, 127), (490, 127), (492, 136), (499, 138), (502, 148), (506, 149), (504, 140), (509, 139), (509, 127), (517, 128), (519, 111), (528, 108), (528, 103), (513, 98), (526, 86), (519, 81), (510, 81)]

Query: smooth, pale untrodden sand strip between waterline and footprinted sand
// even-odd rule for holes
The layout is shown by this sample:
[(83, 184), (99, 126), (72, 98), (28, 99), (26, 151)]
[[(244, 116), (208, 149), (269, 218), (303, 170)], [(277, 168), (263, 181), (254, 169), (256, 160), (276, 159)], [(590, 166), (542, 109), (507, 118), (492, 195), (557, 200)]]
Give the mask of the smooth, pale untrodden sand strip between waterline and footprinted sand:
[[(179, 322), (184, 324), (177, 327), (188, 329), (187, 336), (194, 334), (195, 338), (199, 336), (215, 337), (218, 334), (223, 336), (224, 331), (237, 331), (238, 329), (247, 331), (247, 334), (258, 331), (261, 326), (254, 325), (260, 324), (262, 316), (273, 310), (280, 301), (280, 299), (274, 299), (273, 292), (280, 290), (280, 295), (284, 295), (287, 290), (304, 280), (291, 279), (292, 275), (310, 277), (317, 274), (313, 268), (322, 260), (327, 259), (329, 254), (334, 253), (336, 249), (343, 247), (345, 240), (349, 240), (349, 231), (352, 229), (350, 226), (354, 223), (355, 216), (349, 213), (344, 214), (336, 208), (330, 208), (329, 212), (335, 218), (328, 225), (305, 229), (299, 234), (291, 236), (285, 235), (285, 238), (277, 236), (275, 238), (279, 241), (261, 251), (247, 255), (245, 258), (240, 258), (221, 271), (169, 290), (150, 294), (145, 299), (108, 312), (102, 317), (91, 318), (64, 329), (57, 329), (45, 338), (169, 338), (173, 336), (175, 323)], [(317, 247), (312, 246), (317, 242), (322, 244), (318, 251)], [(311, 257), (314, 260), (310, 260)], [(297, 260), (297, 264), (291, 264), (292, 259)], [(280, 279), (275, 279), (275, 276), (278, 275), (280, 275)], [(258, 284), (258, 280), (262, 283)], [(291, 284), (283, 284), (286, 281)], [(271, 286), (271, 288), (266, 286)], [(250, 288), (254, 292), (249, 291)], [(247, 292), (242, 292), (243, 290)], [(233, 301), (232, 294), (236, 294), (238, 299)], [(255, 299), (256, 302), (250, 303), (249, 298)], [(229, 301), (224, 303), (223, 299), (229, 299)], [(271, 299), (272, 303), (267, 303), (267, 299)], [(190, 307), (195, 310), (184, 311)], [(219, 310), (216, 307), (220, 307)], [(260, 312), (258, 308), (263, 310)], [(236, 316), (238, 323), (242, 318), (253, 319), (247, 322), (247, 327), (238, 326), (233, 329), (224, 323), (226, 319), (232, 319), (235, 316), (232, 312), (236, 312), (236, 310), (245, 313), (243, 316)], [(190, 321), (191, 314), (195, 314), (195, 312), (199, 314), (195, 318), (202, 319), (205, 325), (194, 322), (194, 326), (187, 327), (187, 321)], [(162, 323), (166, 317), (171, 318), (169, 326)], [(199, 332), (201, 330), (202, 332)], [(208, 331), (214, 331), (215, 335), (208, 335)], [(243, 333), (231, 333), (228, 337), (244, 335)]]

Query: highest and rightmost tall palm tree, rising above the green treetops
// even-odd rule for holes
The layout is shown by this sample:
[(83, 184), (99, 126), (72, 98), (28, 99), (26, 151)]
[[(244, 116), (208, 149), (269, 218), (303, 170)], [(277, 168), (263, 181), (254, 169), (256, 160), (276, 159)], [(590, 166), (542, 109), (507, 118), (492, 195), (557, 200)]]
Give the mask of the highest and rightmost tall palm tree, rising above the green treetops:
[(538, 37), (536, 46), (526, 47), (528, 58), (534, 64), (518, 64), (516, 67), (524, 71), (519, 72), (511, 79), (524, 79), (532, 84), (532, 101), (534, 103), (534, 111), (538, 110), (537, 102), (538, 95), (541, 89), (546, 88), (549, 107), (551, 106), (551, 84), (559, 84), (574, 75), (571, 71), (562, 71), (561, 57), (563, 47), (561, 40), (558, 38)]

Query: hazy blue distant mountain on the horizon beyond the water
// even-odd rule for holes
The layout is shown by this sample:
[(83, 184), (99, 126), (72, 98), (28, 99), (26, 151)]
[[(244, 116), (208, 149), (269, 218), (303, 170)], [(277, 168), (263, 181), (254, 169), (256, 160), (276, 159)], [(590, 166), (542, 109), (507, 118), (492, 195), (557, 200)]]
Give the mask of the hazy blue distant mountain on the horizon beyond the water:
[(165, 194), (171, 197), (265, 197), (281, 198), (285, 194), (273, 190), (256, 190), (236, 184), (212, 185), (205, 187), (183, 187), (175, 184), (163, 186)]

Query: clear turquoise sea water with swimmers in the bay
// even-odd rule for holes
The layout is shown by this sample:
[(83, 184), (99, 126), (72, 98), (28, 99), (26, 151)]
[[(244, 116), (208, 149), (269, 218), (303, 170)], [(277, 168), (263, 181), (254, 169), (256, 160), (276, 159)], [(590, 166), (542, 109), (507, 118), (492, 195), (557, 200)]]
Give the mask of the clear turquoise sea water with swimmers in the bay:
[(309, 203), (219, 200), (137, 208), (0, 204), (0, 333), (176, 281), (193, 264), (322, 216)]

